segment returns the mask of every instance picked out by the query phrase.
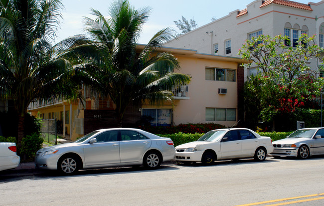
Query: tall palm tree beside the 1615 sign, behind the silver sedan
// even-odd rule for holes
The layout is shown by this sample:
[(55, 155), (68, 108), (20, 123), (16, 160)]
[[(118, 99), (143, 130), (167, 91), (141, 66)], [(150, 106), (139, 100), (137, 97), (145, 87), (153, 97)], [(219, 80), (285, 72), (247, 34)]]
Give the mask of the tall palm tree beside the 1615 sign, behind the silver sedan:
[(139, 49), (137, 40), (149, 13), (148, 7), (136, 10), (128, 0), (116, 0), (109, 18), (95, 9), (95, 19), (85, 18), (86, 30), (102, 48), (98, 67), (89, 71), (98, 82), (93, 87), (112, 99), (119, 126), (130, 103), (162, 104), (172, 100), (172, 86), (190, 81), (188, 75), (173, 72), (179, 63), (172, 54), (159, 52), (163, 42), (175, 37), (170, 28), (158, 31)]

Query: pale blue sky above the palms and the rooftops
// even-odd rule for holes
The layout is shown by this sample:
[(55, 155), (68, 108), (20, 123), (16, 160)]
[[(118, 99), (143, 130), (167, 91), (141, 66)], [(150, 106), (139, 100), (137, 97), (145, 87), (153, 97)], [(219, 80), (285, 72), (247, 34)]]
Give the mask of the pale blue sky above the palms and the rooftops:
[[(173, 28), (177, 33), (174, 22), (181, 19), (193, 19), (197, 27), (203, 26), (214, 17), (216, 19), (228, 15), (230, 12), (246, 8), (246, 5), (253, 0), (129, 0), (135, 9), (144, 7), (151, 8), (148, 21), (144, 24), (141, 37), (138, 43), (146, 44), (153, 35), (166, 27)], [(296, 0), (301, 3), (309, 3), (310, 0)], [(313, 0), (312, 2), (319, 2)], [(83, 19), (90, 17), (90, 8), (99, 10), (103, 15), (108, 16), (108, 10), (113, 0), (62, 0), (64, 10), (60, 29), (57, 33), (56, 42), (69, 36), (85, 33)]]

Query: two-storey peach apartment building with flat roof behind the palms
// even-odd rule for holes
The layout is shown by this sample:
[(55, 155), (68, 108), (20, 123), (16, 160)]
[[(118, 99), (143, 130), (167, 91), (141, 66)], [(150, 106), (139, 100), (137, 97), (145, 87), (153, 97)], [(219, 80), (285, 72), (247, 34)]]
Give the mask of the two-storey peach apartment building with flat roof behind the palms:
[[(138, 45), (143, 49), (145, 45)], [(125, 124), (136, 124), (141, 117), (151, 117), (151, 125), (169, 126), (186, 123), (217, 123), (232, 126), (242, 119), (238, 110), (238, 97), (244, 85), (244, 60), (234, 56), (203, 54), (194, 49), (162, 47), (172, 53), (180, 68), (174, 72), (190, 75), (191, 82), (171, 88), (173, 104), (162, 106), (131, 105), (125, 113)], [(63, 100), (29, 106), (32, 115), (39, 113), (44, 119), (57, 118), (63, 123), (66, 138), (75, 140), (93, 130), (116, 127), (114, 105), (109, 98), (93, 95), (83, 88), (83, 103)]]

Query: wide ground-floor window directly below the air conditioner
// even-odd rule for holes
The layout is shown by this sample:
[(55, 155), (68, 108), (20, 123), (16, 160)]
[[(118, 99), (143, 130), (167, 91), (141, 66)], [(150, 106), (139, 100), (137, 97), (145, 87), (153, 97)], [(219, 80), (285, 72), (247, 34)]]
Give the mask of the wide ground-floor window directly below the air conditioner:
[(235, 108), (206, 108), (206, 121), (235, 121)]

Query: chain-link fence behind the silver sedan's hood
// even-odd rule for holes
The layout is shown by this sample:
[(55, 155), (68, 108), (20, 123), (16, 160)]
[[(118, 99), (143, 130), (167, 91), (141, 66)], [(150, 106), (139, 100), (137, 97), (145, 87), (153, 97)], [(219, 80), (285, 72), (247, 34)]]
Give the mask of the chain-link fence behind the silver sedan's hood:
[(43, 119), (41, 127), (41, 136), (45, 142), (57, 144), (56, 119)]

